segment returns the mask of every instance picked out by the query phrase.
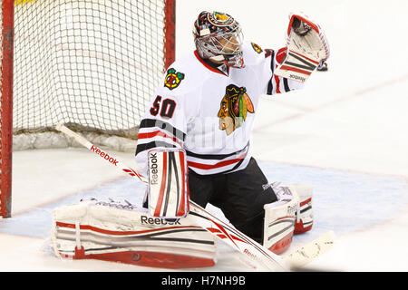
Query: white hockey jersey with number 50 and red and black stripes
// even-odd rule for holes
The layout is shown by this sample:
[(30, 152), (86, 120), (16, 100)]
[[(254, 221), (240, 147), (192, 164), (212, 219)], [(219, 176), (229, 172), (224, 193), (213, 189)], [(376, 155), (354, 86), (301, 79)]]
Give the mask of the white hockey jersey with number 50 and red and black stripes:
[(245, 169), (260, 96), (303, 86), (274, 75), (285, 54), (244, 43), (244, 68), (216, 68), (197, 52), (172, 63), (141, 121), (141, 174), (147, 172), (147, 152), (160, 147), (184, 148), (189, 169), (201, 175)]

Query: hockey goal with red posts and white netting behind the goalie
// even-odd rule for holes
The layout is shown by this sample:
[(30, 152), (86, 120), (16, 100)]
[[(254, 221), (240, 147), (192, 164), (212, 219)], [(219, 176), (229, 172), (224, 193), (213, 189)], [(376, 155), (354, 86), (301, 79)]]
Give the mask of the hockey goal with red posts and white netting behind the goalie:
[(0, 217), (9, 218), (12, 147), (53, 147), (58, 122), (137, 138), (175, 60), (176, 0), (2, 0), (0, 9)]

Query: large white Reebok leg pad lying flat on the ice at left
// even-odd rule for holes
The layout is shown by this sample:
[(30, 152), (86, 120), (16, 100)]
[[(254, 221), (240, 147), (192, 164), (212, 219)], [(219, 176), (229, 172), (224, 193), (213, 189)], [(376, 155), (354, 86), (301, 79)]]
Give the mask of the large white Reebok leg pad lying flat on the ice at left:
[(130, 203), (96, 199), (53, 210), (56, 256), (161, 268), (216, 264), (217, 240), (193, 216), (165, 220)]

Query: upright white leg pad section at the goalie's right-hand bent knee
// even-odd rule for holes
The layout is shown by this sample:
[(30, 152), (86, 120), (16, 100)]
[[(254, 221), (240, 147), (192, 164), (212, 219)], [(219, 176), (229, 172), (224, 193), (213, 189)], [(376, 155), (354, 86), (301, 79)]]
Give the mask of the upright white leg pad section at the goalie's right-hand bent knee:
[[(264, 220), (263, 246), (275, 254), (281, 254), (290, 247), (295, 231), (298, 197), (292, 186), (281, 187), (276, 202), (267, 204)], [(276, 189), (274, 189), (276, 190)]]

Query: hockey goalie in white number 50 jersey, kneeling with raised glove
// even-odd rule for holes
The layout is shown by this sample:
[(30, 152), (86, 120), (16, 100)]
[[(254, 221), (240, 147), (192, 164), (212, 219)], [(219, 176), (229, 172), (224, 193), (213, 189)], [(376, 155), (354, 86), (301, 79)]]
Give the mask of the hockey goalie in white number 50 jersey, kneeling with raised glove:
[[(141, 206), (86, 200), (53, 212), (57, 255), (142, 266), (216, 263), (215, 237), (198, 227), (189, 200), (220, 208), (229, 223), (284, 253), (313, 227), (313, 189), (269, 182), (249, 142), (261, 95), (302, 89), (329, 57), (325, 34), (291, 14), (287, 46), (245, 42), (229, 14), (202, 12), (194, 52), (163, 75), (140, 124), (137, 169), (149, 180)], [(296, 180), (294, 180), (296, 183)]]

